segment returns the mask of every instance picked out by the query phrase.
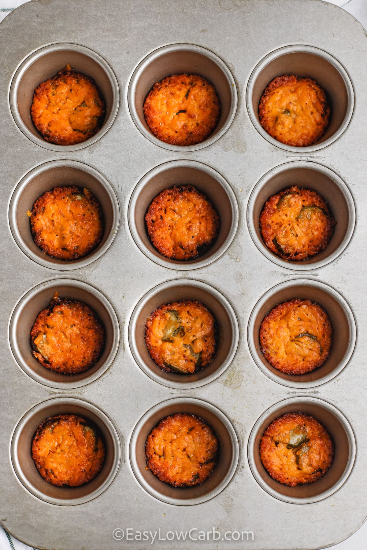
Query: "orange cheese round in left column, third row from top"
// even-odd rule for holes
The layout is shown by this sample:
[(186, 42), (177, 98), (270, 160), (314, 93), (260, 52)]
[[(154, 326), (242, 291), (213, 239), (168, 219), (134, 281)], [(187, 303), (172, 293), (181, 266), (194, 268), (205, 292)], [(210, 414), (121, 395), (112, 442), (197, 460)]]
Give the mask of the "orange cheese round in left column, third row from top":
[(55, 293), (31, 330), (33, 355), (46, 368), (76, 375), (95, 365), (105, 347), (105, 327), (83, 302)]

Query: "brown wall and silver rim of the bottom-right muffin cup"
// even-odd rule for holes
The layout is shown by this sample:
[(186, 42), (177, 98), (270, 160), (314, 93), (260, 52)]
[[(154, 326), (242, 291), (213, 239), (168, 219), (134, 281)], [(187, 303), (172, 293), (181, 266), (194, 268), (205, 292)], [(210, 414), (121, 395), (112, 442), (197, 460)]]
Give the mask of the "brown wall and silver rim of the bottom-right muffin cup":
[[(319, 420), (329, 433), (334, 445), (334, 457), (326, 474), (309, 485), (288, 487), (273, 480), (260, 459), (260, 441), (266, 428), (278, 416), (287, 412), (304, 412)], [(355, 438), (346, 417), (327, 401), (298, 395), (284, 399), (267, 409), (251, 430), (248, 442), (249, 466), (255, 480), (272, 497), (291, 504), (310, 504), (330, 497), (352, 471), (355, 459)]]

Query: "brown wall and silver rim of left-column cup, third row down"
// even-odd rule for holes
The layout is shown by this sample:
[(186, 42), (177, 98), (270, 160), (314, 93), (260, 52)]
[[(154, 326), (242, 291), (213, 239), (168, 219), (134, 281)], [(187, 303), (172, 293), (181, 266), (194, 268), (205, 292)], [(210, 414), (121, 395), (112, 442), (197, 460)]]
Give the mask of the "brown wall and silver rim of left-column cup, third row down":
[[(77, 375), (64, 375), (46, 367), (32, 355), (30, 332), (39, 312), (48, 307), (55, 292), (61, 298), (80, 300), (100, 316), (106, 329), (106, 345), (96, 364)], [(75, 279), (52, 279), (37, 285), (22, 296), (9, 323), (9, 342), (15, 361), (23, 371), (45, 386), (73, 389), (94, 382), (107, 371), (117, 354), (120, 329), (116, 313), (107, 298), (91, 285)]]

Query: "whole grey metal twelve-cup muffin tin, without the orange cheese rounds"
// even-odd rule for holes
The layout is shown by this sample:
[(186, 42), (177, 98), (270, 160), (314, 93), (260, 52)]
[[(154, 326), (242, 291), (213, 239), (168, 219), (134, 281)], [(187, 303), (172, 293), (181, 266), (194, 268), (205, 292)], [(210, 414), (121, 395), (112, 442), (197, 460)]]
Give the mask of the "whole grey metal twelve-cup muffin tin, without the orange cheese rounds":
[[(0, 519), (34, 547), (149, 548), (113, 538), (114, 529), (132, 528), (160, 529), (162, 549), (195, 550), (198, 537), (183, 543), (165, 533), (197, 529), (195, 538), (214, 528), (222, 540), (210, 538), (208, 548), (305, 550), (343, 540), (366, 517), (365, 32), (332, 4), (294, 0), (289, 9), (288, 0), (108, 8), (89, 0), (87, 9), (60, 0), (24, 4), (1, 24)], [(90, 140), (57, 146), (36, 133), (29, 107), (35, 86), (67, 63), (96, 80), (107, 116)], [(142, 114), (152, 84), (180, 72), (212, 80), (222, 102), (216, 132), (189, 147), (157, 140)], [(264, 134), (256, 114), (265, 85), (288, 72), (319, 81), (332, 106), (324, 138), (302, 149)], [(89, 187), (105, 215), (100, 246), (76, 262), (43, 255), (28, 230), (26, 211), (61, 183)], [(222, 220), (216, 243), (189, 262), (158, 255), (143, 223), (151, 199), (175, 183), (198, 186)], [(293, 184), (318, 191), (337, 220), (327, 249), (300, 263), (272, 255), (257, 222), (265, 200)], [(31, 323), (55, 290), (84, 300), (106, 325), (105, 353), (81, 375), (45, 373), (31, 355)], [(287, 377), (266, 364), (256, 334), (273, 305), (296, 297), (326, 309), (334, 344), (319, 370)], [(147, 315), (185, 298), (201, 300), (218, 321), (215, 359), (190, 377), (160, 371), (144, 346)], [(267, 424), (291, 410), (323, 422), (336, 449), (326, 475), (295, 490), (267, 475), (257, 451)], [(144, 442), (161, 417), (179, 411), (212, 425), (220, 454), (201, 486), (176, 490), (145, 470)], [(80, 488), (46, 483), (30, 456), (38, 423), (63, 412), (94, 420), (107, 443), (104, 469)], [(254, 540), (224, 540), (226, 531), (252, 531)]]

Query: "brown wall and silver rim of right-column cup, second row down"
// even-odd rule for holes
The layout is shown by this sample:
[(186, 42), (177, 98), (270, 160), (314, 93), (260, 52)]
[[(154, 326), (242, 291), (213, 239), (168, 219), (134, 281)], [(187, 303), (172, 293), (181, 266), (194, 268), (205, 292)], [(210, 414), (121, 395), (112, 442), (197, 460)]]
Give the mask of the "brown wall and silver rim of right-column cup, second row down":
[[(292, 185), (319, 193), (337, 222), (326, 249), (298, 262), (286, 261), (273, 254), (260, 233), (260, 214), (265, 202)], [(330, 168), (316, 162), (288, 162), (272, 168), (255, 185), (247, 205), (247, 224), (251, 239), (268, 260), (289, 270), (316, 270), (336, 260), (348, 246), (355, 227), (355, 205), (347, 185)]]

